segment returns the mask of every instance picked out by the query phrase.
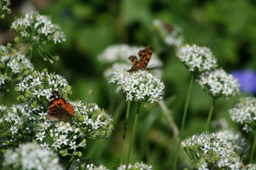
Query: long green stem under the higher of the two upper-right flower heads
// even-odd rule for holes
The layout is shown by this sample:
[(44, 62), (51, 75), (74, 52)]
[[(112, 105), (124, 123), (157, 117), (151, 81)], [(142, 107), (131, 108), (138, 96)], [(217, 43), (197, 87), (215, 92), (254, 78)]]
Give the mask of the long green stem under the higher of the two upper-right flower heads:
[(174, 162), (173, 162), (173, 170), (177, 169), (177, 163), (178, 163), (179, 151), (180, 151), (180, 143), (181, 143), (181, 139), (183, 137), (184, 125), (185, 125), (185, 120), (187, 117), (188, 104), (189, 104), (189, 100), (190, 100), (190, 94), (191, 94), (193, 82), (194, 82), (194, 75), (192, 74), (191, 80), (189, 83), (189, 87), (188, 87), (188, 94), (187, 94), (187, 98), (186, 98), (186, 102), (185, 102), (185, 106), (184, 106), (184, 112), (183, 112), (183, 117), (182, 117), (182, 122), (181, 122), (181, 133), (180, 133), (180, 137), (179, 137), (177, 148), (176, 148), (175, 158), (174, 158)]

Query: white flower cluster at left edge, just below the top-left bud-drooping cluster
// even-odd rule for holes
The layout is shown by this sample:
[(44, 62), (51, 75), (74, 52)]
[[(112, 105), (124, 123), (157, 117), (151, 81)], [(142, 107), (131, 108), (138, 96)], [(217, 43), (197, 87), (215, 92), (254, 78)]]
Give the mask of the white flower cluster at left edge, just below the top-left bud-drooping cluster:
[(0, 45), (0, 91), (4, 93), (7, 83), (19, 80), (34, 70), (34, 66), (20, 51), (11, 46)]

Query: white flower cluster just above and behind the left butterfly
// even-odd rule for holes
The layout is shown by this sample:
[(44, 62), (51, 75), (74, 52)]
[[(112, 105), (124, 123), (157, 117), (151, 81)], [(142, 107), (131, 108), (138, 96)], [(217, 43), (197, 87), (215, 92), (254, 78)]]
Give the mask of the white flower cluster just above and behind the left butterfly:
[(34, 71), (27, 75), (17, 84), (15, 89), (21, 94), (18, 100), (29, 107), (31, 113), (34, 114), (32, 114), (33, 116), (39, 114), (40, 117), (48, 110), (48, 102), (53, 90), (58, 89), (64, 98), (71, 94), (71, 87), (67, 80), (58, 74), (48, 73), (47, 69), (42, 72)]

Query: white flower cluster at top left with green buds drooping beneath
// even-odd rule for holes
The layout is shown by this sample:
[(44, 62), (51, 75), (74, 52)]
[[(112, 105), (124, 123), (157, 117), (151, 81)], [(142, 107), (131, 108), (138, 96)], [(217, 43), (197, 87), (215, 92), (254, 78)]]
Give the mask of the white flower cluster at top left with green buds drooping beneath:
[(60, 25), (53, 24), (49, 16), (41, 15), (37, 11), (32, 11), (26, 14), (25, 17), (16, 18), (11, 23), (11, 30), (18, 34), (15, 38), (16, 43), (30, 44), (30, 59), (34, 48), (37, 48), (41, 57), (51, 63), (53, 63), (53, 60), (57, 61), (59, 57), (50, 54), (44, 46), (66, 40)]

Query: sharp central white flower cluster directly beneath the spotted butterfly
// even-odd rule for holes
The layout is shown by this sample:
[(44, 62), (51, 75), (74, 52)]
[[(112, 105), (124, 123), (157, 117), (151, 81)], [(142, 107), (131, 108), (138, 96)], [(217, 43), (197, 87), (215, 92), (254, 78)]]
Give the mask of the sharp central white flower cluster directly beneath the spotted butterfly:
[(160, 101), (164, 95), (164, 83), (146, 70), (133, 72), (117, 83), (116, 92), (124, 92), (127, 100), (139, 102)]

